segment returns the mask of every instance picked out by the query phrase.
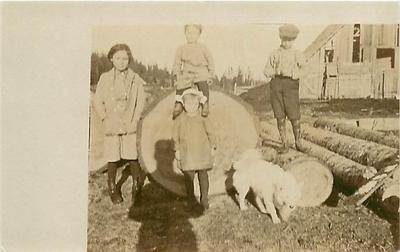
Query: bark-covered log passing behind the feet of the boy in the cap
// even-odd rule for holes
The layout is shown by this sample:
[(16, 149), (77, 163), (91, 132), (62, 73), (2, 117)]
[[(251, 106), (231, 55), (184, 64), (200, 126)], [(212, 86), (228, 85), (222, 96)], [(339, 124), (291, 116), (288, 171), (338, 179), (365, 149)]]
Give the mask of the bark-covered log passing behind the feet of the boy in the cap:
[[(268, 141), (280, 141), (276, 126), (266, 122), (261, 123), (261, 137)], [(354, 191), (358, 189), (367, 183), (377, 172), (373, 167), (361, 165), (309, 141), (304, 140), (303, 144), (308, 149), (307, 154), (324, 162), (331, 169), (335, 178), (349, 190)], [(293, 152), (293, 150), (290, 152)]]

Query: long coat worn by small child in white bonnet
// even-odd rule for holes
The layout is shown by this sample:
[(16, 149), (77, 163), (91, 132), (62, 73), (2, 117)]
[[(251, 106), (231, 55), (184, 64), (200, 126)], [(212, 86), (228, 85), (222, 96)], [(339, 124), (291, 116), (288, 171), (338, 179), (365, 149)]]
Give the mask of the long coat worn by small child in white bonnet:
[(174, 121), (173, 140), (180, 153), (182, 171), (208, 170), (213, 167), (211, 148), (216, 137), (208, 117), (190, 117), (182, 113)]

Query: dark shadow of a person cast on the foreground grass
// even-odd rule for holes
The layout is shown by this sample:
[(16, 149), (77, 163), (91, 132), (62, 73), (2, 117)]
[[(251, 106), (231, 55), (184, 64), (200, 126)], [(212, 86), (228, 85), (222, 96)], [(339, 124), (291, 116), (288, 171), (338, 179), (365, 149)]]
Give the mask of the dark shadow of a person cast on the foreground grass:
[(141, 201), (133, 205), (129, 218), (141, 222), (137, 251), (198, 251), (190, 218), (201, 211), (186, 206), (183, 198), (150, 182), (143, 187)]

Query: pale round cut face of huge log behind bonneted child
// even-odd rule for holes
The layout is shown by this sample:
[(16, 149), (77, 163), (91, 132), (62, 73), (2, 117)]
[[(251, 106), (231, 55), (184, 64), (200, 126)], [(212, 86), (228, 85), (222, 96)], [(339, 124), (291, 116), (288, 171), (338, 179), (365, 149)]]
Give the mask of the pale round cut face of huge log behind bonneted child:
[[(139, 161), (156, 182), (173, 193), (185, 195), (183, 175), (174, 160), (171, 141), (174, 103), (175, 92), (171, 92), (143, 113), (137, 132)], [(220, 194), (226, 190), (225, 172), (232, 161), (258, 144), (258, 123), (251, 107), (239, 97), (215, 89), (210, 92), (209, 118), (218, 138), (215, 166), (209, 172), (210, 194)]]

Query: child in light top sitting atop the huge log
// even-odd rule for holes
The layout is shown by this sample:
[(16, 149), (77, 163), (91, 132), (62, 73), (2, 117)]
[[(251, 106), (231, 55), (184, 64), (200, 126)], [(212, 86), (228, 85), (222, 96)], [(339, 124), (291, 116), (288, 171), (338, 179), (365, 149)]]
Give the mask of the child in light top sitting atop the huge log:
[(201, 25), (185, 25), (187, 43), (180, 46), (176, 51), (173, 74), (176, 76), (177, 101), (175, 102), (173, 119), (183, 111), (179, 96), (193, 86), (196, 86), (203, 93), (205, 98), (200, 103), (202, 107), (201, 115), (203, 117), (208, 116), (209, 85), (212, 84), (212, 77), (214, 76), (214, 60), (208, 48), (197, 42), (201, 32)]

